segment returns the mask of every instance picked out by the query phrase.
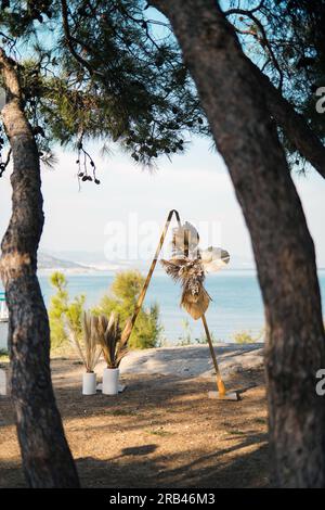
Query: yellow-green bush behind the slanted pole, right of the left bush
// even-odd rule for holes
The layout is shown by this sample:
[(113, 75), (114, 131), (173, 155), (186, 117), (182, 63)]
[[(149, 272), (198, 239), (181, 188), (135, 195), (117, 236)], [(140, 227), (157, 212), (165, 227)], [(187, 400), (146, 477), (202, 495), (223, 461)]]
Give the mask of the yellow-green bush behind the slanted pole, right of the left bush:
[[(110, 292), (105, 295), (93, 313), (107, 317), (114, 311), (119, 315), (121, 328), (134, 311), (144, 278), (139, 271), (121, 271), (115, 277)], [(142, 308), (129, 340), (130, 348), (156, 347), (159, 344), (162, 327), (159, 323), (159, 307)]]

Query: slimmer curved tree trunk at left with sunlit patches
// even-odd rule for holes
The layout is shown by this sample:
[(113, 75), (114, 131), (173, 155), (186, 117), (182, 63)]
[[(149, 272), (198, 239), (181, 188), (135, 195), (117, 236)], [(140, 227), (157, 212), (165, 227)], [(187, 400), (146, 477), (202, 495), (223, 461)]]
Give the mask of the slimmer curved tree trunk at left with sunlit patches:
[(78, 487), (50, 372), (50, 331), (36, 276), (43, 228), (39, 155), (24, 115), (16, 64), (0, 49), (8, 101), (2, 118), (13, 156), (12, 217), (2, 240), (9, 307), (11, 390), (23, 468), (30, 487)]

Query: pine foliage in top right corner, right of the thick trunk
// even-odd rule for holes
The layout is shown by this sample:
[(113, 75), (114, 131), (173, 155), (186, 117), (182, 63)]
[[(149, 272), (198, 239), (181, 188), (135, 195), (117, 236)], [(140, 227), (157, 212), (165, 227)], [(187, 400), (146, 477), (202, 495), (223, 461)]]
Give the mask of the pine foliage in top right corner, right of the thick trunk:
[[(222, 1), (238, 31), (244, 51), (270, 77), (282, 94), (304, 116), (324, 142), (325, 115), (317, 113), (317, 88), (325, 79), (325, 1)], [(280, 132), (290, 167), (308, 170), (295, 142)]]

